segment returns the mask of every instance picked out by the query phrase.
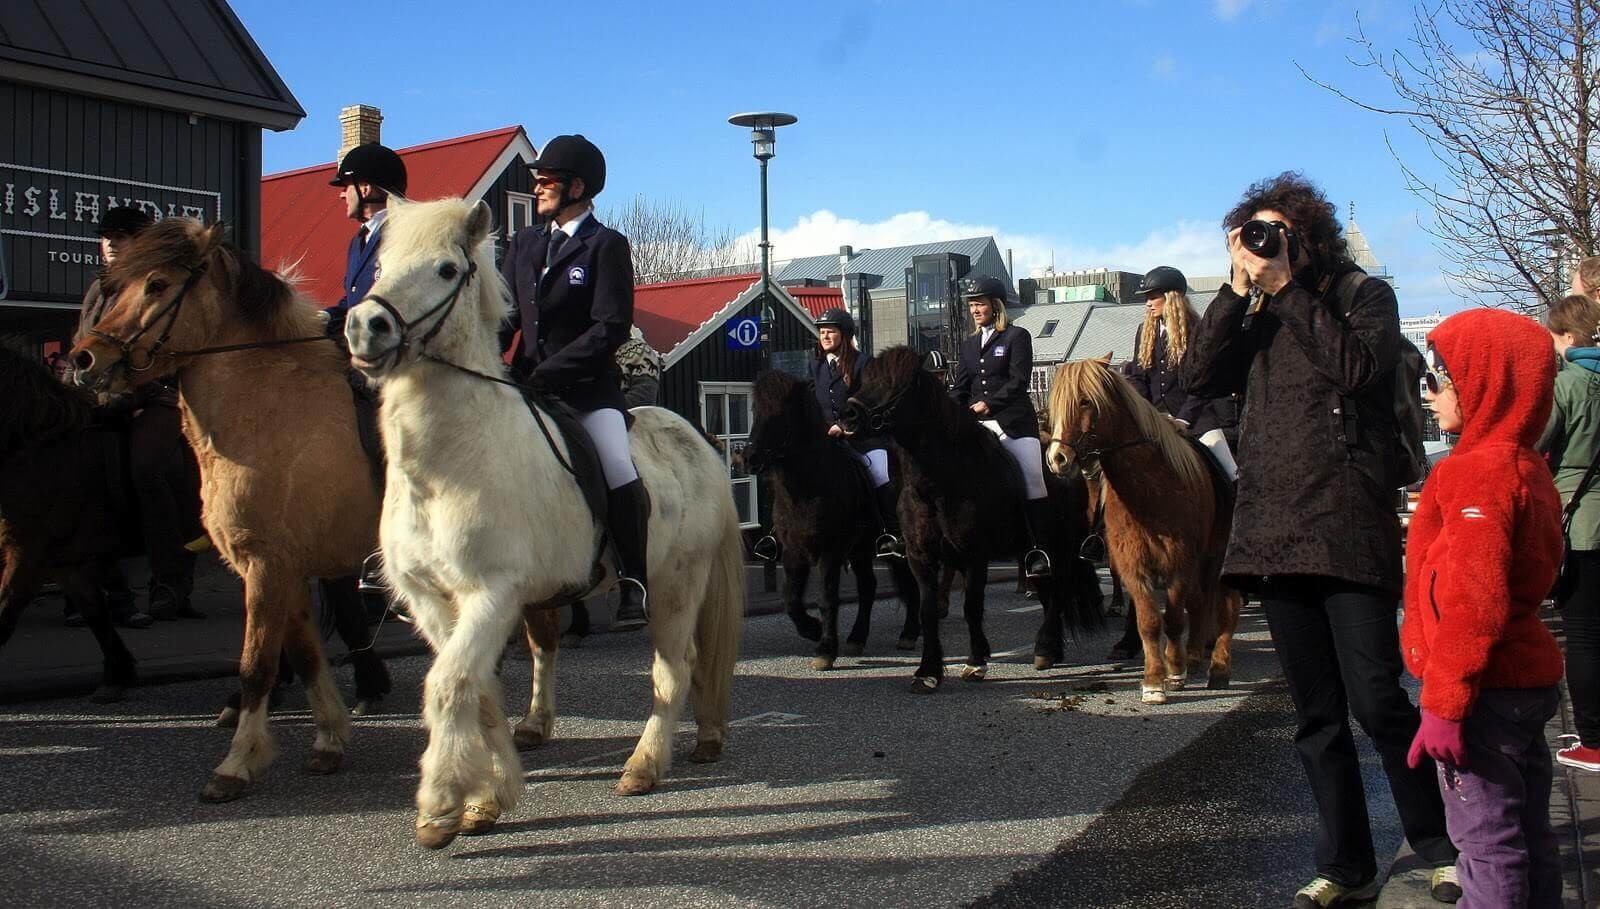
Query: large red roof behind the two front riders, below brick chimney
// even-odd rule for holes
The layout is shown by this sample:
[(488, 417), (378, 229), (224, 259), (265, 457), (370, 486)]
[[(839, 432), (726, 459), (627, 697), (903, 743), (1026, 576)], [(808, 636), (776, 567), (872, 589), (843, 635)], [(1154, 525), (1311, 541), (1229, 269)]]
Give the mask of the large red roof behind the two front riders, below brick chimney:
[[(466, 195), (518, 134), (522, 126), (506, 126), (395, 149), (405, 162), (406, 195)], [(261, 178), (261, 262), (269, 269), (294, 266), (301, 288), (322, 306), (339, 301), (344, 254), (355, 235), (339, 189), (328, 186), (334, 168), (328, 162)]]

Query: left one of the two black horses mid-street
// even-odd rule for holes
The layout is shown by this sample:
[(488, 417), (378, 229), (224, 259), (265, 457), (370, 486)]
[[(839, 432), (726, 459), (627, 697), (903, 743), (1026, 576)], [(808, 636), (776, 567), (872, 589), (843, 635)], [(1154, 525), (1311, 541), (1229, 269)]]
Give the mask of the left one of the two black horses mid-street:
[[(773, 488), (773, 536), (784, 565), (784, 610), (800, 637), (814, 640), (811, 669), (832, 669), (843, 651), (859, 656), (872, 626), (878, 581), (872, 573), (882, 528), (872, 509), (866, 469), (843, 442), (827, 437), (827, 422), (811, 384), (770, 370), (755, 379), (755, 421), (741, 458), (765, 474)], [(856, 624), (838, 643), (838, 575), (856, 575)], [(822, 621), (805, 611), (811, 567), (822, 571)], [(888, 560), (894, 589), (906, 603), (906, 626), (896, 647), (910, 650), (922, 634), (917, 581), (902, 559)]]

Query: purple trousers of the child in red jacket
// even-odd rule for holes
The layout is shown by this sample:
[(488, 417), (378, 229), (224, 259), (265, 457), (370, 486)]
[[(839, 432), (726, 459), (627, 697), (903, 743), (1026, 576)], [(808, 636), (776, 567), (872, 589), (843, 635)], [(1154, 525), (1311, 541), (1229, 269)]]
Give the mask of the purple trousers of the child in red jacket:
[(1544, 723), (1560, 691), (1485, 688), (1467, 715), (1467, 768), (1438, 765), (1445, 824), (1461, 850), (1459, 909), (1562, 904), (1562, 856), (1550, 831), (1550, 747)]

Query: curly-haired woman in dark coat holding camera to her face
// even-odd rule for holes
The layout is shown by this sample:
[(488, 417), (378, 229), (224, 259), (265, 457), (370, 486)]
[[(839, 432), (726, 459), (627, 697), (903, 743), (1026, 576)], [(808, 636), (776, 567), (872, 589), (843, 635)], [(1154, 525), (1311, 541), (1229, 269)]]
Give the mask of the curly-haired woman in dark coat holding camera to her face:
[(1394, 290), (1350, 261), (1333, 205), (1296, 173), (1251, 186), (1227, 213), (1232, 280), (1184, 358), (1192, 394), (1245, 400), (1238, 506), (1224, 575), (1259, 594), (1294, 701), (1294, 746), (1322, 816), (1317, 877), (1294, 906), (1378, 891), (1350, 733), (1373, 739), (1434, 896), (1459, 896), (1432, 762), (1411, 770), (1419, 715), (1400, 687), (1394, 511), (1398, 429)]

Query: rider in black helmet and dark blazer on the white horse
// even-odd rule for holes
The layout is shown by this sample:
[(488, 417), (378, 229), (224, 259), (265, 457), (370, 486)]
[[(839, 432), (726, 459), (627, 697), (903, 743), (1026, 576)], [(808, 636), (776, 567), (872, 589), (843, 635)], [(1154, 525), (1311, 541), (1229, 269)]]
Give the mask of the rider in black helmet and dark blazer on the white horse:
[(634, 328), (634, 258), (627, 237), (594, 216), (605, 155), (582, 136), (555, 136), (533, 162), (544, 230), (518, 230), (501, 262), (517, 302), (504, 338), (518, 330), (512, 371), (565, 400), (595, 442), (605, 471), (606, 523), (621, 562), (611, 627), (648, 619), (650, 496), (634, 467), (616, 350)]

